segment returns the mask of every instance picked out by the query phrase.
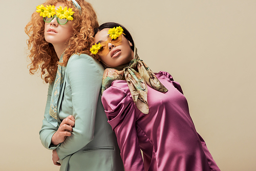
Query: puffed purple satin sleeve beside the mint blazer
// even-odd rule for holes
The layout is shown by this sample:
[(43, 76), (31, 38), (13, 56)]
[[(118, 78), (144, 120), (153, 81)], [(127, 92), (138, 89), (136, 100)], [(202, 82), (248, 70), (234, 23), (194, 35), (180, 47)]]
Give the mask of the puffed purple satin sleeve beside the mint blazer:
[(101, 101), (108, 122), (116, 134), (125, 171), (144, 170), (136, 132), (137, 118), (133, 99), (124, 90), (111, 86), (103, 92)]

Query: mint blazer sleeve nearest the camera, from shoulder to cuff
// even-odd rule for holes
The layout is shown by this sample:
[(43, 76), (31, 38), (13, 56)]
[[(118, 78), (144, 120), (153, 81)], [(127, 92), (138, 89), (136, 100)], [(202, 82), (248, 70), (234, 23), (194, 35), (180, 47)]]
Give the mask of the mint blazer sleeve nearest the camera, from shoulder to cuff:
[(75, 125), (72, 136), (67, 137), (57, 148), (60, 160), (86, 146), (94, 138), (97, 101), (103, 70), (92, 57), (72, 55), (68, 61), (66, 75), (72, 91)]

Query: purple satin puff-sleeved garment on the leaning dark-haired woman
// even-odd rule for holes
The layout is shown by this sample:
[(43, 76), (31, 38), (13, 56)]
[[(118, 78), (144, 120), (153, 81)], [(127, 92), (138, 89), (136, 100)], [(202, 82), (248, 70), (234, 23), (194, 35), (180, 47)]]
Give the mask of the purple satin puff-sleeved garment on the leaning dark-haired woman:
[(115, 80), (102, 95), (125, 171), (220, 170), (195, 129), (180, 84), (169, 73), (156, 76), (168, 92), (147, 87), (148, 114), (137, 109), (124, 80)]

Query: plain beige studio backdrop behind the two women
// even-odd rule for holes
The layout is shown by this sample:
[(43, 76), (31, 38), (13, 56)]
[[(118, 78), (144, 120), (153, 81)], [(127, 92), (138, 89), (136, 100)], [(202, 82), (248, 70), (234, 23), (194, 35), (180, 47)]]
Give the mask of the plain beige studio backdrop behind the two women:
[[(39, 140), (48, 85), (29, 75), (24, 27), (41, 0), (1, 0), (0, 170), (58, 170)], [(222, 171), (256, 170), (256, 1), (93, 1), (131, 31), (154, 72), (181, 83)], [(253, 164), (254, 163), (254, 164)]]

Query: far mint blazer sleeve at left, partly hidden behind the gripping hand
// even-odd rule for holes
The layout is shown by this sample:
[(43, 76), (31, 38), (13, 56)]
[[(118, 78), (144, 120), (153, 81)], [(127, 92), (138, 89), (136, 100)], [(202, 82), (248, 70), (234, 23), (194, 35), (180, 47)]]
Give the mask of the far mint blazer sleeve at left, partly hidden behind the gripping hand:
[(49, 84), (49, 87), (48, 87), (48, 95), (47, 95), (44, 120), (42, 120), (42, 127), (41, 127), (41, 130), (39, 131), (41, 143), (48, 149), (55, 149), (57, 147), (56, 145), (51, 146), (51, 142), (52, 142), (52, 136), (58, 130), (58, 127), (53, 126), (46, 119), (49, 115), (53, 85), (54, 85), (54, 82), (52, 82), (52, 84)]

